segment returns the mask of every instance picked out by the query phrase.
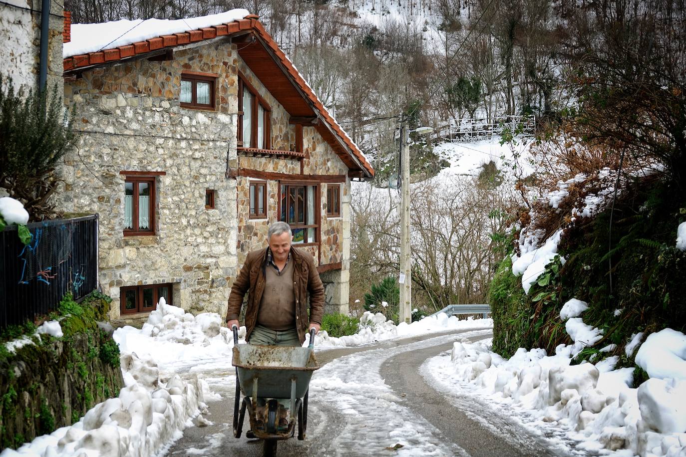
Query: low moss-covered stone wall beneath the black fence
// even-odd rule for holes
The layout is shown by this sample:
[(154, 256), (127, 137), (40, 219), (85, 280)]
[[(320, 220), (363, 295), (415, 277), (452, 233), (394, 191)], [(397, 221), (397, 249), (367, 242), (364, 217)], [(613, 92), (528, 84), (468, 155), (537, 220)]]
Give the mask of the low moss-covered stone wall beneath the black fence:
[[(123, 386), (119, 348), (97, 325), (111, 299), (99, 293), (60, 304), (62, 338), (41, 335), (0, 354), (0, 449), (78, 421)], [(2, 345), (4, 348), (5, 346)]]

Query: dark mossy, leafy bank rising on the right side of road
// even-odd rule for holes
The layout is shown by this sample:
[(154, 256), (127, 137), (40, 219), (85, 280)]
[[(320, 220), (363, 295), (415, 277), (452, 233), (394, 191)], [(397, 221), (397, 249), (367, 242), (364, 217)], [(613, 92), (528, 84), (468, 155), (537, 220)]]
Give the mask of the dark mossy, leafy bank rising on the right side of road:
[[(594, 219), (576, 219), (559, 246), (567, 262), (548, 264), (528, 295), (506, 258), (490, 286), (493, 349), (503, 356), (518, 347), (542, 347), (552, 354), (558, 344), (571, 343), (560, 319), (571, 298), (587, 301), (584, 323), (604, 332), (574, 362), (616, 355), (619, 367), (631, 367), (624, 346), (633, 333), (645, 332), (645, 337), (667, 327), (686, 332), (686, 253), (675, 247), (676, 228), (684, 219), (683, 193), (659, 180), (644, 180), (617, 200), (612, 226), (609, 210)], [(617, 348), (600, 353), (611, 343)]]

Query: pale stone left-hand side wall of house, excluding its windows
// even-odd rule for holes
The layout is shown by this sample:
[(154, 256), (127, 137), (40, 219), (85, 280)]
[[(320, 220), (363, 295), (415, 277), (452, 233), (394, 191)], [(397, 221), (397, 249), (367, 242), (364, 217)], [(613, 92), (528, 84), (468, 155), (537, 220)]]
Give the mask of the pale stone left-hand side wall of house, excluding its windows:
[[(236, 275), (237, 54), (228, 40), (175, 49), (174, 60), (125, 61), (68, 77), (64, 94), (82, 130), (64, 158), (60, 209), (99, 213), (100, 283), (119, 288), (174, 284), (174, 304), (225, 312)], [(182, 71), (218, 75), (215, 111), (182, 108)], [(156, 234), (123, 236), (121, 171), (163, 171), (156, 185)], [(215, 209), (205, 209), (205, 190)], [(112, 319), (119, 317), (113, 306)]]

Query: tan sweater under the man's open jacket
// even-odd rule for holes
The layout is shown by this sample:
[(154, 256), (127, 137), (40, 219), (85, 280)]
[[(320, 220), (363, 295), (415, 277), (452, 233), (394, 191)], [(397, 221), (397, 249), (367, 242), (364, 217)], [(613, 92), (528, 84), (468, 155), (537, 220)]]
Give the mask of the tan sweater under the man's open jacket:
[(273, 265), (265, 267), (265, 287), (257, 311), (259, 325), (277, 331), (296, 328), (293, 264), (294, 260), (289, 259), (281, 273)]

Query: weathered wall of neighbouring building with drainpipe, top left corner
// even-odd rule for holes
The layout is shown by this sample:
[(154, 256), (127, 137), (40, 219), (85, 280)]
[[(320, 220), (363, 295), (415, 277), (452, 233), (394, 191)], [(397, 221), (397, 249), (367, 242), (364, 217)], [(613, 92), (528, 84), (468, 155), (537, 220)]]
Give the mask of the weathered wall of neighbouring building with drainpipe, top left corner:
[[(38, 88), (40, 71), (40, 0), (16, 0), (0, 5), (0, 75), (10, 77), (14, 88)], [(17, 8), (20, 7), (20, 8)], [(62, 29), (64, 18), (57, 2), (50, 2), (47, 84), (58, 86), (62, 96)], [(37, 11), (30, 11), (37, 10)]]

